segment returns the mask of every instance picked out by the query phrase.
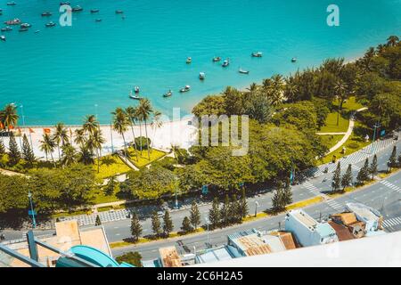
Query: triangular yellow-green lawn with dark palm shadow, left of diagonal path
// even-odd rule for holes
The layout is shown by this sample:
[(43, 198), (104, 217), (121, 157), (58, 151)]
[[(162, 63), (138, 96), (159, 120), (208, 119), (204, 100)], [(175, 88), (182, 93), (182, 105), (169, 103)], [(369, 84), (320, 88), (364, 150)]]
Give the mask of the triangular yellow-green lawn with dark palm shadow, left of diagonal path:
[(96, 178), (105, 179), (112, 176), (123, 175), (132, 170), (117, 155), (107, 155), (101, 158), (100, 171), (97, 173), (97, 159), (94, 159)]

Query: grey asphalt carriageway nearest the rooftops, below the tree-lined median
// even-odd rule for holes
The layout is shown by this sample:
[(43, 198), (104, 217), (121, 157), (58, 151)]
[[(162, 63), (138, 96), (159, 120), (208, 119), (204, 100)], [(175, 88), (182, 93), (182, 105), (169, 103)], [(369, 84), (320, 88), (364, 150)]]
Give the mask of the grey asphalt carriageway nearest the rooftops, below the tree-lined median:
[[(401, 172), (390, 176), (386, 181), (392, 184), (401, 183)], [(383, 185), (382, 183), (374, 183), (367, 186), (364, 189), (351, 192), (349, 194), (340, 196), (340, 198), (335, 199), (340, 205), (345, 205), (348, 202), (360, 202), (368, 205), (372, 208), (381, 210), (384, 216), (384, 220), (401, 217), (401, 192), (394, 191), (389, 187)], [(323, 220), (327, 219), (329, 215), (338, 213), (339, 211), (335, 208), (331, 208), (327, 203), (319, 203), (313, 206), (304, 208), (304, 210), (315, 219)], [(243, 230), (248, 230), (256, 228), (259, 231), (270, 231), (278, 229), (279, 226), (283, 228), (284, 214), (279, 216), (274, 216), (271, 218), (263, 218), (257, 221), (253, 221), (246, 224), (238, 224), (230, 228), (225, 228), (221, 230), (216, 230), (214, 232), (209, 232), (210, 244), (213, 247), (220, 246), (226, 243), (226, 236)], [(279, 223), (281, 223), (279, 225)], [(401, 223), (394, 227), (385, 228), (387, 232), (401, 231)], [(179, 246), (176, 242), (177, 240), (182, 240), (183, 246)], [(112, 253), (114, 256), (119, 256), (128, 251), (139, 251), (143, 256), (144, 260), (156, 258), (159, 256), (159, 248), (167, 246), (176, 246), (181, 254), (189, 253), (189, 250), (198, 250), (202, 248), (207, 248), (208, 233), (202, 232), (200, 234), (181, 237), (172, 240), (160, 240), (157, 242), (145, 243), (138, 246), (131, 246), (127, 248), (114, 248)], [(186, 249), (186, 250), (185, 250)]]

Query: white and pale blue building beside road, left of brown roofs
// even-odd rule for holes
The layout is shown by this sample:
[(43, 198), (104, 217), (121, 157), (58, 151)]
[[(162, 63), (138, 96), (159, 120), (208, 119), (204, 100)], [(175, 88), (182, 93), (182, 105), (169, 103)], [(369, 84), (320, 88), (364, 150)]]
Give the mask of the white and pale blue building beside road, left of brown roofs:
[(292, 232), (303, 247), (339, 241), (336, 232), (327, 223), (318, 223), (304, 211), (291, 210), (285, 217), (285, 231)]

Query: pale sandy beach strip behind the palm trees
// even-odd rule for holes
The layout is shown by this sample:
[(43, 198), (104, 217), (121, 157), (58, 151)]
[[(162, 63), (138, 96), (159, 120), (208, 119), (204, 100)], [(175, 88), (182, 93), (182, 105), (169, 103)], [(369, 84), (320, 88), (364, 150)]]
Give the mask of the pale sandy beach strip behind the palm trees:
[[(155, 126), (151, 126), (148, 124), (148, 136), (151, 139), (152, 147), (155, 149), (159, 149), (161, 151), (170, 151), (171, 145), (179, 145), (181, 148), (188, 149), (195, 142), (195, 138), (197, 135), (196, 127), (192, 126), (190, 121), (191, 117), (180, 118), (174, 121), (165, 121), (162, 123), (162, 126), (159, 128)], [(69, 130), (69, 134), (74, 135), (74, 131), (81, 126), (66, 126)], [(45, 128), (50, 129), (51, 134), (53, 134), (54, 127), (53, 126), (19, 126), (14, 129), (15, 134), (19, 133), (19, 129), (21, 134), (27, 134), (29, 140), (31, 138), (33, 150), (35, 152), (35, 156), (38, 159), (45, 159), (45, 153), (40, 151), (39, 145), (42, 140), (43, 134), (45, 134)], [(121, 150), (124, 147), (124, 140), (122, 135), (118, 134), (116, 131), (111, 130), (110, 125), (101, 125), (102, 135), (106, 142), (102, 145), (102, 155), (110, 154), (112, 151)], [(142, 130), (141, 130), (142, 128)], [(145, 135), (145, 127), (144, 125), (140, 128), (140, 126), (134, 126), (134, 134), (135, 137)], [(31, 133), (30, 130), (33, 131)], [(30, 137), (29, 137), (30, 134)], [(18, 144), (22, 143), (22, 135), (16, 137), (16, 141)], [(126, 138), (126, 142), (133, 141), (133, 133), (131, 127), (128, 127), (127, 132), (124, 134)], [(8, 149), (9, 138), (4, 137), (4, 146)], [(74, 146), (78, 148), (78, 146), (72, 142)], [(53, 153), (54, 159), (58, 159), (58, 151), (57, 148)]]

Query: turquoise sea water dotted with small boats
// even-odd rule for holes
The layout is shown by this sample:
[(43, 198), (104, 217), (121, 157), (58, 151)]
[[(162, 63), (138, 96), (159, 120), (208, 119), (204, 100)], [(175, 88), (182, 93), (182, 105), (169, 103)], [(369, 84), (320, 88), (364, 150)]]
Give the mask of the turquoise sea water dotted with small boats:
[[(84, 11), (65, 28), (45, 28), (49, 20), (58, 23), (59, 0), (8, 1), (0, 0), (0, 20), (18, 17), (33, 27), (2, 33), (0, 106), (23, 105), (28, 125), (77, 124), (88, 113), (107, 123), (115, 107), (136, 103), (127, 97), (134, 85), (163, 113), (173, 107), (189, 113), (226, 85), (243, 87), (327, 57), (352, 59), (401, 30), (400, 0), (71, 0)], [(340, 7), (340, 27), (326, 24), (332, 3)], [(94, 8), (100, 12), (91, 14)], [(45, 11), (53, 16), (41, 17)], [(252, 59), (256, 51), (264, 57)], [(214, 56), (230, 58), (230, 67), (212, 63)], [(192, 91), (179, 94), (184, 85)], [(170, 88), (175, 94), (162, 98)]]

